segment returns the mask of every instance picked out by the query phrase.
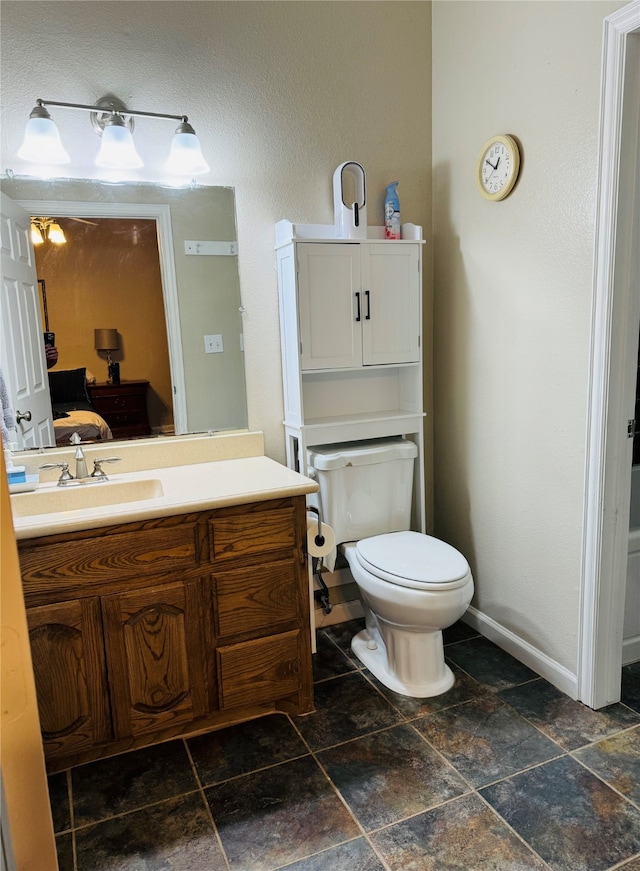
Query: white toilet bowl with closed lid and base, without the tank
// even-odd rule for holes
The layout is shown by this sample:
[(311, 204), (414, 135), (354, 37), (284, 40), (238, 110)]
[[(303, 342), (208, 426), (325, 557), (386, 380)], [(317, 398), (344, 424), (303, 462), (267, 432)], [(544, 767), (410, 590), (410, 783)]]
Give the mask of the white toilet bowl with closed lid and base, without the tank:
[(365, 608), (365, 629), (351, 641), (358, 659), (384, 684), (426, 698), (453, 686), (442, 630), (473, 596), (465, 558), (419, 532), (377, 535), (343, 547)]

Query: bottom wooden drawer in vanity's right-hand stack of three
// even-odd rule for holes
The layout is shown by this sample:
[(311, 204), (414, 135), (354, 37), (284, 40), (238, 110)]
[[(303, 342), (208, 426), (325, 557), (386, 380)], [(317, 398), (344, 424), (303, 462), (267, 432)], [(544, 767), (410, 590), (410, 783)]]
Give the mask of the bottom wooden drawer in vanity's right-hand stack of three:
[(300, 632), (219, 647), (220, 707), (269, 702), (300, 690)]

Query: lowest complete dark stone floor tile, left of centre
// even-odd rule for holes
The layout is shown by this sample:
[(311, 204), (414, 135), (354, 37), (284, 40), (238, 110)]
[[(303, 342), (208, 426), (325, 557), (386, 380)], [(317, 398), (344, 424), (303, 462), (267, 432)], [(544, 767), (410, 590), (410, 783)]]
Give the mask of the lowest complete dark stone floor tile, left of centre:
[(205, 790), (233, 871), (272, 871), (360, 831), (310, 757)]

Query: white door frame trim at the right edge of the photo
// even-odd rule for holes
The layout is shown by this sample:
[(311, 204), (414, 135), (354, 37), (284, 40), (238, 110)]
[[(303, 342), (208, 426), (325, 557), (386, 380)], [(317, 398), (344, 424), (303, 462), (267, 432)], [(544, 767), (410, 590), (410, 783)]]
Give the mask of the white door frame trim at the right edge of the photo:
[[(579, 699), (592, 708), (620, 699), (631, 489), (626, 361), (634, 318), (638, 340), (638, 305), (631, 282), (620, 280), (621, 249), (629, 250), (633, 233), (633, 205), (629, 212), (619, 182), (625, 96), (629, 99), (625, 59), (636, 33), (640, 0), (605, 19), (578, 645)], [(637, 142), (635, 151), (637, 159)], [(637, 223), (637, 194), (635, 215)]]

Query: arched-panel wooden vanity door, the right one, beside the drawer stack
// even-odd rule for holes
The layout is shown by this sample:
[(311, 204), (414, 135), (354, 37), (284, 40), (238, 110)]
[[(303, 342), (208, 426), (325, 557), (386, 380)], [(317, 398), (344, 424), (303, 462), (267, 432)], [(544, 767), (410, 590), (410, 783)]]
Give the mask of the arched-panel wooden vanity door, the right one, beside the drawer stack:
[(115, 737), (204, 715), (212, 641), (201, 582), (115, 593), (102, 606)]

